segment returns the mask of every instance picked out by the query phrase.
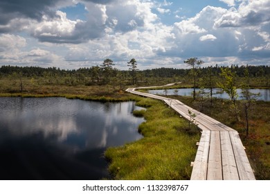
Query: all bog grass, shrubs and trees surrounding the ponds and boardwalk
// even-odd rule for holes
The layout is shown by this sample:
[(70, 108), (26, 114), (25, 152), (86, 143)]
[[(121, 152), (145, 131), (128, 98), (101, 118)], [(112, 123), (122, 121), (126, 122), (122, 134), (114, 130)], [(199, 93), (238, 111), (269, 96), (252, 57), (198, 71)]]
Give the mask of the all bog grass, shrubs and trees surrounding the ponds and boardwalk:
[[(163, 103), (127, 94), (131, 86), (165, 85), (200, 88), (190, 97), (171, 96), (240, 132), (257, 179), (270, 179), (270, 103), (256, 100), (251, 88), (270, 88), (270, 67), (204, 67), (194, 58), (186, 60), (191, 69), (137, 69), (135, 59), (127, 70), (114, 68), (106, 59), (100, 66), (77, 70), (55, 67), (0, 67), (0, 96), (63, 96), (84, 100), (136, 100), (147, 110), (134, 112), (146, 121), (139, 127), (144, 138), (134, 143), (110, 148), (105, 153), (113, 179), (189, 179), (195, 159), (199, 130), (189, 126)], [(231, 100), (213, 98), (212, 89), (221, 87)], [(210, 89), (205, 92), (205, 89)], [(239, 100), (235, 89), (242, 89)], [(166, 91), (166, 90), (165, 90)], [(176, 89), (177, 91), (177, 89)], [(166, 92), (165, 92), (166, 94)], [(177, 94), (177, 92), (175, 92)]]

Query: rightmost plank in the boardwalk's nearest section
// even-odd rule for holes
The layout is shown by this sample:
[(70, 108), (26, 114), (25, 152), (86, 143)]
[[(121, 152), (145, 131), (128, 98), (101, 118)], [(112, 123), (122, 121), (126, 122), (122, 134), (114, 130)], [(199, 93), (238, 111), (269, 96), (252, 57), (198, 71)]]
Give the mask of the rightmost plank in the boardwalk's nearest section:
[(229, 133), (240, 180), (255, 180), (253, 170), (249, 164), (249, 159), (246, 156), (239, 134), (237, 132)]

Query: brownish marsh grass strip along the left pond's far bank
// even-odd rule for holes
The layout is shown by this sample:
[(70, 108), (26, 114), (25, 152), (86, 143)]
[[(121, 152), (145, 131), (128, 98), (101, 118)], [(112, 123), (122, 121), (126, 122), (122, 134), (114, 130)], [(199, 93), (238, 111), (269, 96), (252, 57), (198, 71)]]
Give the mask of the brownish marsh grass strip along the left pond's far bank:
[(128, 94), (122, 89), (114, 89), (111, 85), (48, 85), (23, 80), (20, 91), (18, 80), (0, 80), (0, 97), (64, 97), (69, 99), (94, 100), (99, 102), (123, 102), (137, 100), (138, 97)]

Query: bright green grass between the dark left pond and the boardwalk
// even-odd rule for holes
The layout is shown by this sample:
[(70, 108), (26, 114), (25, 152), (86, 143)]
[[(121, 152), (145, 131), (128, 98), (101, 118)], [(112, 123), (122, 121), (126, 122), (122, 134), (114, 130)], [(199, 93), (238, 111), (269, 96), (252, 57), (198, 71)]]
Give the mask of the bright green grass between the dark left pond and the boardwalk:
[(142, 98), (146, 122), (139, 126), (143, 139), (109, 148), (109, 172), (114, 179), (190, 179), (199, 130), (187, 133), (188, 122), (161, 101)]

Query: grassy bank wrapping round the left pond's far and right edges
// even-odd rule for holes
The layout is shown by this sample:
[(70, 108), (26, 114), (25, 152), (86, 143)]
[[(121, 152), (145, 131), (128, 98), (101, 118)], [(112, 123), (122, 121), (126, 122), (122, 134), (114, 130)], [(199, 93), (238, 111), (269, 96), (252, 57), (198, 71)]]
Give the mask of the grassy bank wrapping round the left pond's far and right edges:
[[(109, 148), (105, 157), (109, 160), (109, 172), (112, 179), (190, 179), (195, 159), (196, 142), (200, 133), (195, 127), (187, 130), (188, 121), (180, 118), (174, 110), (159, 100), (142, 98), (124, 91), (107, 92), (107, 88), (97, 90), (69, 88), (69, 94), (63, 90), (44, 88), (22, 93), (0, 93), (0, 97), (45, 98), (63, 97), (69, 99), (95, 100), (105, 102), (136, 101), (136, 105), (146, 107), (144, 112), (134, 112), (134, 116), (144, 116), (145, 122), (138, 127), (143, 139)], [(42, 94), (41, 94), (42, 93)]]

